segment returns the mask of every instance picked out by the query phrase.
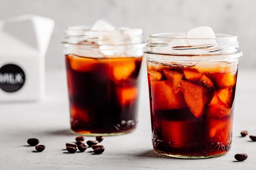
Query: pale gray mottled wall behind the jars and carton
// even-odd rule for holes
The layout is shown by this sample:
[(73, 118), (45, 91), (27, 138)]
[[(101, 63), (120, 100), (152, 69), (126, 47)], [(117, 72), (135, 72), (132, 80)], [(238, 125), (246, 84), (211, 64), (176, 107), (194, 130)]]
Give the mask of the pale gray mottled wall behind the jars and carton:
[[(0, 0), (0, 19), (34, 13), (56, 22), (47, 67), (63, 67), (61, 40), (65, 26), (108, 19), (117, 26), (140, 26), (145, 35), (185, 32), (208, 25), (215, 32), (238, 35), (240, 66), (256, 66), (254, 0)], [(146, 38), (145, 38), (146, 40)]]

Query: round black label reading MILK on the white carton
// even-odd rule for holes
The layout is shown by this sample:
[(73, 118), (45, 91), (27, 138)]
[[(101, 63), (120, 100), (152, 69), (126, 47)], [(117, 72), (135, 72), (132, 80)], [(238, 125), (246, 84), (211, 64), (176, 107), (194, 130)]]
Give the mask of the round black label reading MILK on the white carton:
[(24, 71), (15, 64), (6, 64), (0, 68), (0, 88), (6, 92), (20, 90), (25, 83)]

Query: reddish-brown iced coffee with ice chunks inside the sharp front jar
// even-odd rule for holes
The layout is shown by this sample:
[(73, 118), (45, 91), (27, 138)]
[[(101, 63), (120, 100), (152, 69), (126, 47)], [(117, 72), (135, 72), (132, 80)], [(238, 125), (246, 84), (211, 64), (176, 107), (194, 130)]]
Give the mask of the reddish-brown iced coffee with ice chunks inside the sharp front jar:
[(228, 64), (218, 71), (148, 61), (154, 149), (179, 156), (226, 153), (232, 141), (236, 76), (237, 66)]

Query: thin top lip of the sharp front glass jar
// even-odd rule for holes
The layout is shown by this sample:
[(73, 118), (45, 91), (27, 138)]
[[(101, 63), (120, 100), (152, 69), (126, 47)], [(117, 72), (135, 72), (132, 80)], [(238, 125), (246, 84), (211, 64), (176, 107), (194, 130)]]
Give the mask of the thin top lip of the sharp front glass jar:
[[(180, 37), (170, 37), (171, 35), (177, 35), (177, 34), (187, 34), (187, 33), (155, 33), (152, 35), (149, 35), (149, 38), (159, 38), (159, 39), (165, 39), (165, 40), (225, 40), (229, 38), (237, 38), (234, 34), (229, 33), (215, 33), (216, 38), (180, 38)], [(162, 36), (161, 36), (162, 35)], [(163, 36), (166, 35), (166, 36)], [(167, 35), (169, 35), (167, 37)]]

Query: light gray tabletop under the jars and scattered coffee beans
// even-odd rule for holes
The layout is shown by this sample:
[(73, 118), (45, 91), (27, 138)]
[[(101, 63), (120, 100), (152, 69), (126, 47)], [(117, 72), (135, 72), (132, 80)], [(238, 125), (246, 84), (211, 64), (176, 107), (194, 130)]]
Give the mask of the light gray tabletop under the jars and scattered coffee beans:
[[(42, 102), (0, 103), (0, 169), (188, 169), (188, 170), (253, 170), (256, 166), (256, 142), (240, 137), (240, 131), (256, 134), (256, 70), (240, 69), (236, 91), (233, 143), (224, 156), (201, 159), (173, 159), (158, 155), (151, 145), (148, 88), (141, 83), (139, 125), (127, 135), (106, 137), (101, 155), (91, 148), (83, 153), (67, 154), (65, 143), (76, 135), (69, 130), (69, 111), (64, 70), (47, 70), (47, 97)], [(27, 139), (36, 137), (46, 146), (34, 152)], [(85, 140), (94, 137), (85, 137)], [(236, 162), (234, 154), (247, 153), (248, 159)]]

